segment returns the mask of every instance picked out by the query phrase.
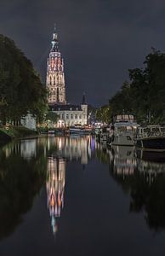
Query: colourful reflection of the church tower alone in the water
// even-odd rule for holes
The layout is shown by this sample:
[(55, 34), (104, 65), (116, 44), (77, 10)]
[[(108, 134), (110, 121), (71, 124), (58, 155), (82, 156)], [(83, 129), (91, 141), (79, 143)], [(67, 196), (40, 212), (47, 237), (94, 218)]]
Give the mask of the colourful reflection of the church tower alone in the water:
[(48, 209), (55, 234), (57, 231), (56, 218), (60, 217), (61, 209), (64, 207), (65, 160), (49, 157), (47, 172)]

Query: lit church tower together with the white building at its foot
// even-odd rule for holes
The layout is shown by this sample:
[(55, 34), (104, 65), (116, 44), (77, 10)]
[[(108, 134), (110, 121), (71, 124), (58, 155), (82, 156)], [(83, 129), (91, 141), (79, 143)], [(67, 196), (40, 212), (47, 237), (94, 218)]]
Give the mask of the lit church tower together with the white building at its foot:
[(68, 127), (71, 125), (87, 125), (88, 105), (83, 95), (81, 105), (67, 104), (65, 99), (65, 73), (64, 60), (59, 49), (59, 38), (54, 27), (52, 48), (48, 55), (47, 79), (49, 110), (57, 113), (59, 119), (55, 127)]

